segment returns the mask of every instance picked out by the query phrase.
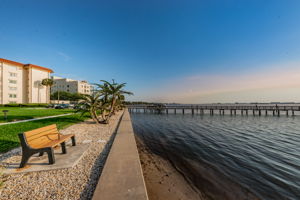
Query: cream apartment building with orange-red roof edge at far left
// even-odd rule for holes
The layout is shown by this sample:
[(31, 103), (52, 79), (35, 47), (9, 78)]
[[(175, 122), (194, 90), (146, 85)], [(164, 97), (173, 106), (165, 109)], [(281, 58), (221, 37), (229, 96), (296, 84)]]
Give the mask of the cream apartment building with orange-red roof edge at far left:
[(45, 67), (0, 58), (0, 104), (49, 103), (49, 90), (41, 82), (50, 73)]

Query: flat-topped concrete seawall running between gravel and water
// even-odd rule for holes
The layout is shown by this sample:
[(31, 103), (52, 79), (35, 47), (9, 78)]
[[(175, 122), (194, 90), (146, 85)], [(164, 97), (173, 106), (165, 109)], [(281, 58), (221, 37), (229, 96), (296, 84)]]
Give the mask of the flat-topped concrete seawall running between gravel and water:
[(127, 110), (117, 130), (93, 196), (93, 200), (99, 199), (148, 200), (131, 119)]

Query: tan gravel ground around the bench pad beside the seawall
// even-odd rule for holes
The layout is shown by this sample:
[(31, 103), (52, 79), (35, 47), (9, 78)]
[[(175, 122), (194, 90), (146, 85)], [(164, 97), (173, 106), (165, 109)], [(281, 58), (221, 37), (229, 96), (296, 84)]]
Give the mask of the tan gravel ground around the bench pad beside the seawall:
[[(62, 134), (76, 134), (78, 144), (91, 140), (79, 163), (71, 169), (5, 176), (0, 199), (91, 199), (121, 115), (121, 112), (114, 115), (109, 125), (88, 120), (62, 130)], [(20, 159), (18, 149), (5, 162), (16, 159)]]

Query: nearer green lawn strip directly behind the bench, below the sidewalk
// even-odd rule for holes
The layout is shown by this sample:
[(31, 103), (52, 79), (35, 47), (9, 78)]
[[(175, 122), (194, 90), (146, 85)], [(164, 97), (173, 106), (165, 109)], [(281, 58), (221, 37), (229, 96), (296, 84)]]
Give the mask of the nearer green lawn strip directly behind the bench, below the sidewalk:
[(87, 118), (89, 118), (88, 115), (81, 117), (80, 114), (74, 114), (51, 119), (2, 125), (0, 126), (0, 152), (3, 153), (9, 151), (10, 149), (20, 146), (18, 133), (40, 128), (50, 124), (57, 124), (58, 128), (62, 129), (69, 125), (82, 122)]

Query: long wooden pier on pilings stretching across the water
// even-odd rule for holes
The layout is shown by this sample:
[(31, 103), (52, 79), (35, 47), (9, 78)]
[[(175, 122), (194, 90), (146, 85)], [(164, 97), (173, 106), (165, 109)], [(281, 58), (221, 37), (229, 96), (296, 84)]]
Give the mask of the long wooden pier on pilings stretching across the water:
[(273, 115), (295, 116), (300, 113), (300, 104), (197, 104), (197, 105), (129, 105), (129, 112), (159, 113), (159, 114), (219, 114), (219, 115)]

